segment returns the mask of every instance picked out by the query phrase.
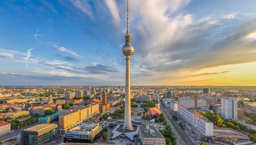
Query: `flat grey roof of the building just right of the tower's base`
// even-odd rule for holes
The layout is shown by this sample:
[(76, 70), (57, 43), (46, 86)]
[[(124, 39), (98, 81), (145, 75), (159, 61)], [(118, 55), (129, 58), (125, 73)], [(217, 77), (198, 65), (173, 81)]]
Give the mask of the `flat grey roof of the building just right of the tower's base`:
[(164, 136), (152, 125), (141, 125), (139, 129), (142, 132), (144, 138), (164, 138)]

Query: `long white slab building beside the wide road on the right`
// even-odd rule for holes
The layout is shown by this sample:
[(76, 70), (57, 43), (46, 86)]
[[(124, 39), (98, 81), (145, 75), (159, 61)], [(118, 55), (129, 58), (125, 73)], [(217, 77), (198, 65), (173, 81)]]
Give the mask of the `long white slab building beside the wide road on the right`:
[(177, 106), (177, 112), (205, 136), (213, 136), (213, 123), (185, 106)]

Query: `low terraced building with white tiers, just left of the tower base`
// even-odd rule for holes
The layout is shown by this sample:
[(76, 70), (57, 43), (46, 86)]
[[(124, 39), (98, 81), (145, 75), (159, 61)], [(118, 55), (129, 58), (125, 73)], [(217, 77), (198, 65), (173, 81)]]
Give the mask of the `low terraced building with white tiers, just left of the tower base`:
[(68, 130), (64, 136), (64, 143), (95, 143), (101, 138), (104, 130), (100, 124), (80, 123), (79, 126)]

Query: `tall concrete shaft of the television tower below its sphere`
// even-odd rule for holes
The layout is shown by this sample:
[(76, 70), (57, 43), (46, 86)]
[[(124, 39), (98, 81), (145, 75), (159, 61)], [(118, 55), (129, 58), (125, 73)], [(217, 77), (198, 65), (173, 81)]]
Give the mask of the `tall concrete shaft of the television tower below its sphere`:
[(131, 125), (130, 56), (126, 56), (125, 123), (123, 129), (133, 130)]

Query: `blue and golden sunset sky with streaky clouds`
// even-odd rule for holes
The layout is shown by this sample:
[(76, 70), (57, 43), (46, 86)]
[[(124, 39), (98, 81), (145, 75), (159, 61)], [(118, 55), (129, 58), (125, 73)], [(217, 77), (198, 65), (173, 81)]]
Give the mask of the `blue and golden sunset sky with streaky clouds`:
[[(256, 1), (129, 6), (131, 85), (256, 85)], [(3, 0), (0, 14), (0, 85), (125, 85), (125, 0)]]

